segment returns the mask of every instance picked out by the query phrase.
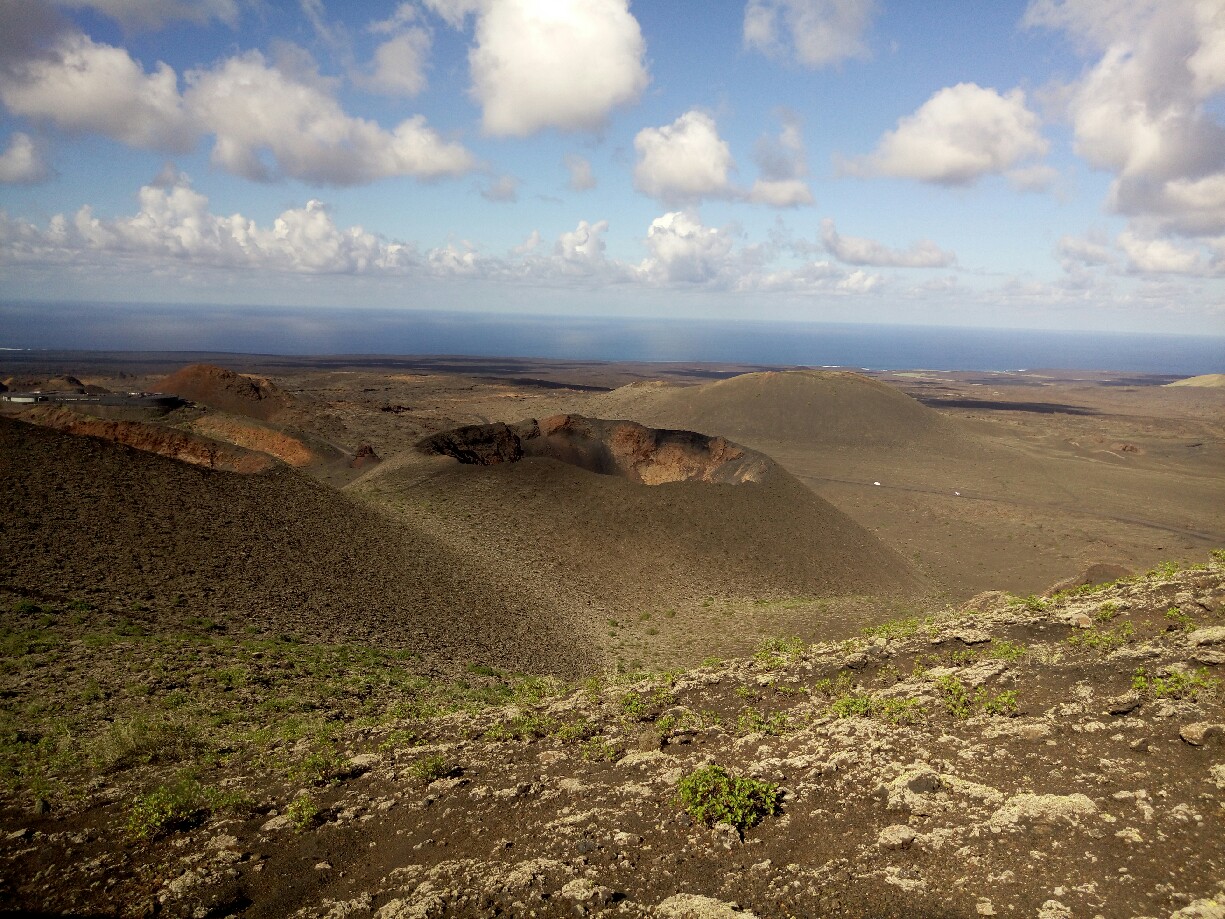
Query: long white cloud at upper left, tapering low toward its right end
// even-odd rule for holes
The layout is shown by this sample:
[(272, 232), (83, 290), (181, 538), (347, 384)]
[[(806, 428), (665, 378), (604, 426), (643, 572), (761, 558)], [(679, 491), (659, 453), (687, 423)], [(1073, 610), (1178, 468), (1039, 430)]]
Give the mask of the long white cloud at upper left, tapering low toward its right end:
[(423, 116), (383, 130), (345, 114), (318, 87), (268, 66), (258, 51), (192, 71), (187, 82), (189, 107), (216, 135), (213, 163), (247, 179), (288, 175), (354, 185), (392, 175), (458, 175), (475, 165), (472, 153), (443, 141)]

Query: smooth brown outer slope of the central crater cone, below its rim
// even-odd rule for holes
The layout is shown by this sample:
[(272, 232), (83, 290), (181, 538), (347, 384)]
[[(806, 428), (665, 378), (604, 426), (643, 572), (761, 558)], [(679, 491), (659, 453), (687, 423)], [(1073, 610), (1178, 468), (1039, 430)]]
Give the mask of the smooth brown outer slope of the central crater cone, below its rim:
[(454, 544), (496, 548), (507, 564), (564, 580), (617, 613), (715, 594), (916, 588), (899, 555), (756, 456), (768, 468), (741, 484), (650, 485), (524, 455), (490, 466), (448, 458), (388, 463), (359, 488), (391, 505), (412, 501), (418, 518), (432, 521)]

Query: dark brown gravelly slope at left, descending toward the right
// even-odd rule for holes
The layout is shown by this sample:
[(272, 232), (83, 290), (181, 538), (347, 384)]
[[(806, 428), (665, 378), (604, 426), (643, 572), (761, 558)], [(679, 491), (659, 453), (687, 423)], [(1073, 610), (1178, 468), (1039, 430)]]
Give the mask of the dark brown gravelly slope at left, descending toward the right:
[(377, 642), (437, 667), (590, 663), (545, 599), (284, 467), (239, 475), (0, 418), (0, 584), (36, 597), (126, 597), (136, 618)]

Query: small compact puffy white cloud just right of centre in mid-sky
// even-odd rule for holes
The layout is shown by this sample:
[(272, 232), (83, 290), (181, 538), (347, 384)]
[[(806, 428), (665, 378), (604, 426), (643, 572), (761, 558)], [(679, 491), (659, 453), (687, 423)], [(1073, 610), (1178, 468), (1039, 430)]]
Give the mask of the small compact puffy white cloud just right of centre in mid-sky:
[(633, 184), (643, 194), (677, 202), (733, 194), (728, 180), (735, 168), (731, 151), (714, 119), (702, 112), (686, 112), (663, 127), (642, 129), (633, 147), (638, 152)]

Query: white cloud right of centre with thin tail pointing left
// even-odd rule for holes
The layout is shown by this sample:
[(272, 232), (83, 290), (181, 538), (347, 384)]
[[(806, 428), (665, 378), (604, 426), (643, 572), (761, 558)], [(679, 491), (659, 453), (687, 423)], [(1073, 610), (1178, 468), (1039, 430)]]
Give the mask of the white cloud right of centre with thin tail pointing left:
[(846, 167), (862, 175), (970, 185), (1041, 157), (1047, 147), (1020, 89), (1001, 96), (976, 83), (958, 83), (935, 93), (898, 121), (871, 156)]

